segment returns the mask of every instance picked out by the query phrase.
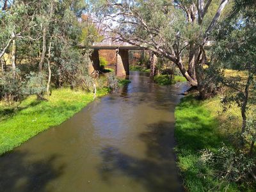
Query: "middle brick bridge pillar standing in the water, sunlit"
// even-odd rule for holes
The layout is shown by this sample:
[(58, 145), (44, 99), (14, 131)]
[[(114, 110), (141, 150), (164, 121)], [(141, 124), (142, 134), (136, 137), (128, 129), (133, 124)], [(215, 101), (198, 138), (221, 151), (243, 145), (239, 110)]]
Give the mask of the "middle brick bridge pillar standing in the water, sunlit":
[(116, 50), (116, 76), (129, 75), (128, 50)]

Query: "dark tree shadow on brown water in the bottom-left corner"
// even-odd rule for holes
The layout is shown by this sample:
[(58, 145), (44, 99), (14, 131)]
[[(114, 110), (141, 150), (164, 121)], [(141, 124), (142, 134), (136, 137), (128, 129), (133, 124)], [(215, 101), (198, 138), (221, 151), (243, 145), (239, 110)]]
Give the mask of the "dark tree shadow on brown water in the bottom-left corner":
[(57, 155), (42, 161), (29, 161), (29, 156), (13, 152), (0, 157), (0, 191), (47, 191), (47, 184), (63, 173), (64, 164), (53, 165)]

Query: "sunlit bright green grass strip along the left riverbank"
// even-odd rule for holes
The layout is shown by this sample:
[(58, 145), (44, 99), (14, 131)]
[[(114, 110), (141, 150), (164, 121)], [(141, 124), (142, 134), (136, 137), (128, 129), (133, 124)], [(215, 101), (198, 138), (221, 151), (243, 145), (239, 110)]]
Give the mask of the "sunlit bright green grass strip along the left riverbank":
[[(107, 90), (98, 90), (97, 96), (107, 93)], [(48, 101), (38, 101), (35, 96), (31, 96), (15, 109), (1, 104), (0, 154), (12, 150), (49, 127), (60, 125), (92, 100), (93, 93), (62, 88), (53, 90)]]

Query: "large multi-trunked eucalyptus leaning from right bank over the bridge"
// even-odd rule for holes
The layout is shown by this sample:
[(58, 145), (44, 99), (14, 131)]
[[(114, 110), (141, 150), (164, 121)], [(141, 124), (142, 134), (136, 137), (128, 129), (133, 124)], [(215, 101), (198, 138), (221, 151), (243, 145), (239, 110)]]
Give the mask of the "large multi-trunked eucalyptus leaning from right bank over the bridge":
[[(211, 95), (214, 86), (204, 76), (204, 46), (228, 0), (102, 0), (94, 4), (102, 30), (114, 33), (115, 40), (168, 58), (203, 98)], [(187, 49), (188, 67), (183, 61)]]

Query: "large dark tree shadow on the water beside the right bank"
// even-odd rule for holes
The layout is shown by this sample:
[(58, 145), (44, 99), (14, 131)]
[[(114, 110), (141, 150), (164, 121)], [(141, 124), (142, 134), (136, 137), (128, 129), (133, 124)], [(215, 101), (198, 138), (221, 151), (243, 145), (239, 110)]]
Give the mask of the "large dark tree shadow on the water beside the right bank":
[[(114, 177), (129, 177), (147, 191), (183, 191), (173, 154), (173, 123), (150, 124), (139, 135), (147, 146), (146, 156), (139, 159), (124, 154), (116, 147), (102, 149), (99, 172), (111, 184)], [(134, 149), (136, 150), (136, 149)]]

